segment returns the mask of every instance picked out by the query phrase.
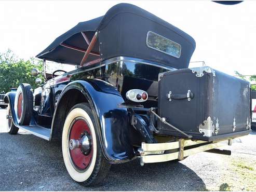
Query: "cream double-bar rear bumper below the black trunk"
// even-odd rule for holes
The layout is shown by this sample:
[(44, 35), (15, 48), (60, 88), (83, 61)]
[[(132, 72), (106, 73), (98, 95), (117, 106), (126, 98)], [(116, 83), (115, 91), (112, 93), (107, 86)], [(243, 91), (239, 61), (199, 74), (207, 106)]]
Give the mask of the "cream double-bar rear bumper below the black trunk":
[[(170, 143), (141, 143), (140, 164), (144, 163), (165, 162), (175, 159), (182, 160), (187, 156), (199, 153), (210, 152), (223, 155), (231, 155), (230, 150), (214, 149), (223, 145), (231, 145), (232, 140), (225, 140), (223, 142), (207, 142), (207, 141), (192, 141), (179, 139), (176, 142)], [(195, 146), (195, 147), (193, 147)], [(184, 149), (186, 147), (186, 149)], [(176, 149), (177, 152), (165, 153), (167, 150)], [(213, 150), (214, 149), (214, 150)]]

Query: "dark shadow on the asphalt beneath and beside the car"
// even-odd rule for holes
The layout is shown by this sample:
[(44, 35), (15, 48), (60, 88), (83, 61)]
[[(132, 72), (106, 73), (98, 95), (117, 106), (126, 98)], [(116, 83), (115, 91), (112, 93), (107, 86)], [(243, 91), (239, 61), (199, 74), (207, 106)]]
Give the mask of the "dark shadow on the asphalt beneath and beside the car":
[[(65, 169), (61, 141), (0, 133), (0, 190), (205, 190), (205, 183), (181, 162), (140, 166), (139, 159), (113, 164), (104, 184), (83, 187)], [(190, 158), (190, 157), (188, 157)]]

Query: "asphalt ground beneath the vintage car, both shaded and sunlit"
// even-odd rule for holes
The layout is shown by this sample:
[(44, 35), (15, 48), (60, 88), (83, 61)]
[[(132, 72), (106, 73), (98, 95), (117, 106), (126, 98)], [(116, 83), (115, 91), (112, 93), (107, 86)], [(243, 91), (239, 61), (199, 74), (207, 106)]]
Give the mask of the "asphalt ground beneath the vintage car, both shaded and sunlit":
[[(48, 142), (19, 131), (6, 133), (6, 109), (0, 109), (0, 190), (218, 190), (228, 171), (228, 159), (256, 159), (255, 132), (227, 146), (224, 156), (199, 153), (181, 162), (145, 164), (138, 160), (112, 165), (101, 186), (84, 187), (65, 169), (61, 142)], [(231, 178), (232, 179), (232, 178)]]

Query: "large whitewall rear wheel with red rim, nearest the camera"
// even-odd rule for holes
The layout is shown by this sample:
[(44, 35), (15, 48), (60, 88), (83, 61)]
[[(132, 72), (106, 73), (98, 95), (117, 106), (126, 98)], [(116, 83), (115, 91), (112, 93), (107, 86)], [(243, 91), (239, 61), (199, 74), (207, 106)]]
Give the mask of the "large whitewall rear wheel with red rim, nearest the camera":
[(73, 180), (84, 185), (100, 183), (110, 169), (103, 156), (96, 124), (87, 103), (75, 105), (65, 119), (62, 154)]

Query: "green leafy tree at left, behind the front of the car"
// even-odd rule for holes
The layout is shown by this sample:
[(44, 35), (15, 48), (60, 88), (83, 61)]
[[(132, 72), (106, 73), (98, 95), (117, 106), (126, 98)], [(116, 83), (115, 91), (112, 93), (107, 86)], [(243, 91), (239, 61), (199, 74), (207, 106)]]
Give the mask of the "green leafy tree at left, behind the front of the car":
[(43, 62), (33, 58), (26, 61), (19, 59), (11, 50), (0, 53), (0, 93), (6, 93), (10, 88), (18, 88), (20, 83), (28, 83), (33, 89), (38, 87), (35, 79), (44, 78), (42, 74), (37, 77), (32, 76), (32, 68), (42, 72)]

